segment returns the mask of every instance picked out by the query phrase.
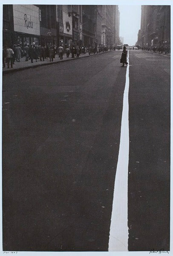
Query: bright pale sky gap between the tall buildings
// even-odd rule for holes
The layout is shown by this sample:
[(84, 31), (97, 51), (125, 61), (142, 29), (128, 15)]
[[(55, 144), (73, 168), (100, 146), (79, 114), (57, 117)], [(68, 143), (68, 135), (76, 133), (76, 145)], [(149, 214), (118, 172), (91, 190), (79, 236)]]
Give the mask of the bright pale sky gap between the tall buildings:
[(120, 37), (124, 44), (133, 46), (138, 40), (138, 30), (141, 28), (141, 6), (121, 6), (120, 11)]

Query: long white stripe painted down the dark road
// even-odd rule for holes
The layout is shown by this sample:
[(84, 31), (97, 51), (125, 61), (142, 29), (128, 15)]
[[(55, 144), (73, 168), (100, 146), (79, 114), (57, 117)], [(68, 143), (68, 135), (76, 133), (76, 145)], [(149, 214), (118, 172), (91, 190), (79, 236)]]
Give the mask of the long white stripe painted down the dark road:
[[(129, 51), (127, 62), (129, 63)], [(121, 135), (110, 224), (109, 251), (128, 251), (129, 65), (123, 97)]]

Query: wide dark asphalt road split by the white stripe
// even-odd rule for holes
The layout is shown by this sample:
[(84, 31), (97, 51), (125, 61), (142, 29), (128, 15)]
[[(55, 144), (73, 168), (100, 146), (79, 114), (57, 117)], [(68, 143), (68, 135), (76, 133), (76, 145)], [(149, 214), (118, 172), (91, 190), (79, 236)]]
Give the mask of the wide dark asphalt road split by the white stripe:
[[(107, 251), (121, 51), (3, 76), (3, 250)], [(129, 54), (128, 250), (169, 250), (170, 57)]]

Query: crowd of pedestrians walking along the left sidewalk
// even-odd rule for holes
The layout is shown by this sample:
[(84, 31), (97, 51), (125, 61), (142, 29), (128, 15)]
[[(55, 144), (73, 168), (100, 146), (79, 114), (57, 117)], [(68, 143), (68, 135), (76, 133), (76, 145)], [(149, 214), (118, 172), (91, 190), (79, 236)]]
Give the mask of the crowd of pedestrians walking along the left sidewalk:
[(3, 67), (12, 68), (15, 62), (20, 62), (21, 58), (25, 58), (25, 61), (53, 61), (55, 55), (58, 55), (60, 60), (63, 59), (63, 56), (66, 54), (66, 57), (69, 58), (70, 54), (72, 57), (79, 57), (80, 55), (84, 55), (87, 52), (89, 55), (98, 54), (99, 52), (108, 51), (108, 47), (100, 46), (100, 47), (55, 47), (55, 45), (47, 44), (25, 44), (24, 47), (21, 47), (20, 44), (14, 44), (12, 47), (3, 47)]

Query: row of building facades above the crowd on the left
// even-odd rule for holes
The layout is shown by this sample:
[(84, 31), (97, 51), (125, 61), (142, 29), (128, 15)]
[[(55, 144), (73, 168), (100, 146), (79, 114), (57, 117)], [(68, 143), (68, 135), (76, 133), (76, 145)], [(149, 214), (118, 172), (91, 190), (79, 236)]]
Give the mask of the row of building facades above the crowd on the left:
[(118, 40), (115, 5), (3, 5), (3, 45), (112, 47)]

